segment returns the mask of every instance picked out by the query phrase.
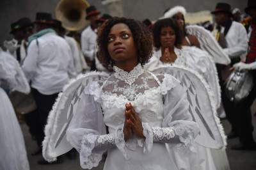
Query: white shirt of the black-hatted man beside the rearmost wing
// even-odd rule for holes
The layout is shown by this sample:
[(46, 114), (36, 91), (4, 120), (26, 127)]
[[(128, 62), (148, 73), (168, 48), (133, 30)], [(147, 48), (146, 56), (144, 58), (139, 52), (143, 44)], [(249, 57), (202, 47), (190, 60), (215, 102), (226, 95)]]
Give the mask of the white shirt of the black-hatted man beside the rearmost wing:
[(246, 29), (239, 22), (233, 21), (227, 35), (225, 36), (227, 41), (227, 48), (224, 52), (230, 57), (243, 56), (248, 49), (248, 38)]

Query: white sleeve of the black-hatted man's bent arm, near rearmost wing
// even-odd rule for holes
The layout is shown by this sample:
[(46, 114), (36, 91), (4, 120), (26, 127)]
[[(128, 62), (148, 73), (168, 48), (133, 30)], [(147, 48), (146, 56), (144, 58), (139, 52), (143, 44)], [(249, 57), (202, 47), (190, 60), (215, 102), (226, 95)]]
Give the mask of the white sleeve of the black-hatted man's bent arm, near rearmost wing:
[(234, 47), (229, 47), (226, 49), (223, 49), (224, 52), (230, 57), (236, 57), (236, 56), (241, 56), (245, 52), (247, 52), (248, 49), (248, 37), (246, 33), (246, 29), (241, 25), (237, 27), (238, 35), (237, 37), (237, 44)]

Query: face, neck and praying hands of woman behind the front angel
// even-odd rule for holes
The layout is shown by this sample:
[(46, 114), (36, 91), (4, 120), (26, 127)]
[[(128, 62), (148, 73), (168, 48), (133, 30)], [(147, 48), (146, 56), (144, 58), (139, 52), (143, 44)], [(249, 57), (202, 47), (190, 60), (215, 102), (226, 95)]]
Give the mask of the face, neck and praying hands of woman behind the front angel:
[(162, 56), (160, 60), (164, 63), (173, 63), (177, 59), (174, 52), (176, 36), (172, 27), (162, 27), (160, 33), (160, 42)]

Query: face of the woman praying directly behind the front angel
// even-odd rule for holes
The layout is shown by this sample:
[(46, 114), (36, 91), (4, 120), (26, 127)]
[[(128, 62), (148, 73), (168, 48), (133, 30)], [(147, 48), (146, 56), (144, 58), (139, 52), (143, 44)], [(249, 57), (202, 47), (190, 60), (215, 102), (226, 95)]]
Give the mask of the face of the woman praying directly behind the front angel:
[(172, 27), (162, 27), (160, 32), (160, 42), (162, 48), (174, 47), (176, 41), (175, 31)]

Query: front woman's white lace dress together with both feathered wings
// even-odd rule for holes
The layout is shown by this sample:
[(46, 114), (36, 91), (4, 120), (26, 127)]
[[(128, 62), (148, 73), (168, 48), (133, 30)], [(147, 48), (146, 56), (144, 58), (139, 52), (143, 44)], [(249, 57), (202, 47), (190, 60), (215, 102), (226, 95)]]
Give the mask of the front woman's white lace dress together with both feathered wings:
[[(72, 81), (49, 115), (44, 158), (52, 161), (74, 147), (81, 166), (88, 169), (98, 166), (107, 150), (105, 170), (198, 169), (198, 164), (189, 162), (199, 130), (196, 123), (200, 125), (196, 142), (216, 148), (224, 145), (214, 106), (196, 75), (181, 68), (164, 69), (181, 82), (170, 74), (147, 72), (140, 64), (129, 73), (114, 66), (110, 76), (92, 72)], [(127, 102), (141, 118), (145, 140), (134, 136), (124, 141)]]

